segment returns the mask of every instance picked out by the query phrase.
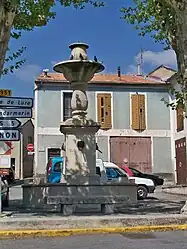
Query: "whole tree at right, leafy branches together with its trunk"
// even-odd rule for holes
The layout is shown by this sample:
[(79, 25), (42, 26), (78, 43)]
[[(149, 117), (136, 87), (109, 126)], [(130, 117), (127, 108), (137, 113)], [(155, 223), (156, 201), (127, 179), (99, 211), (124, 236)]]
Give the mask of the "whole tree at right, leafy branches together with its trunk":
[[(165, 44), (176, 53), (177, 80), (181, 91), (175, 94), (177, 104), (185, 107), (187, 117), (187, 0), (133, 0), (134, 6), (124, 7), (122, 17), (133, 24), (139, 35), (150, 34), (155, 42)], [(170, 104), (173, 108), (174, 105)]]

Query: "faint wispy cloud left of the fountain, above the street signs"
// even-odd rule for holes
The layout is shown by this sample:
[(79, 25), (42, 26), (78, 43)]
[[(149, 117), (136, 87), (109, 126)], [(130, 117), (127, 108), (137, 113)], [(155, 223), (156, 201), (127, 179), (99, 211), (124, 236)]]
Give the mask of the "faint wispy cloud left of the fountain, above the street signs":
[(15, 76), (24, 82), (33, 82), (41, 73), (42, 68), (35, 64), (29, 64), (15, 71)]

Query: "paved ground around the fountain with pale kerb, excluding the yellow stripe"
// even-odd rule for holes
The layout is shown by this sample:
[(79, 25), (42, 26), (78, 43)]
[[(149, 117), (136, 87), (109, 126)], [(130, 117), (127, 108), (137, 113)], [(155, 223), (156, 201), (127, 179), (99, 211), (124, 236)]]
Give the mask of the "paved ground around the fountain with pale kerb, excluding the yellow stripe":
[[(161, 188), (144, 201), (132, 207), (116, 207), (115, 214), (102, 215), (100, 209), (89, 207), (78, 213), (64, 217), (60, 213), (41, 210), (24, 210), (21, 207), (21, 187), (10, 190), (10, 207), (0, 219), (0, 230), (17, 229), (73, 229), (135, 227), (150, 225), (187, 224), (187, 215), (180, 214), (187, 197), (162, 193)], [(89, 211), (89, 212), (88, 212)], [(179, 229), (179, 228), (177, 228)], [(182, 228), (184, 229), (184, 228)], [(185, 228), (186, 229), (186, 228)], [(137, 231), (137, 230), (134, 230)], [(147, 230), (142, 230), (147, 231)], [(1, 246), (0, 246), (1, 249)]]

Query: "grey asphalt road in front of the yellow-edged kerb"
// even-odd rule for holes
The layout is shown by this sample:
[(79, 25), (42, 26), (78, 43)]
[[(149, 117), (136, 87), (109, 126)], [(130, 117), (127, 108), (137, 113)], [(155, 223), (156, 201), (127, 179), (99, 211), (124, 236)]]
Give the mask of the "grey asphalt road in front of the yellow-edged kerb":
[(186, 249), (187, 231), (1, 240), (0, 249)]

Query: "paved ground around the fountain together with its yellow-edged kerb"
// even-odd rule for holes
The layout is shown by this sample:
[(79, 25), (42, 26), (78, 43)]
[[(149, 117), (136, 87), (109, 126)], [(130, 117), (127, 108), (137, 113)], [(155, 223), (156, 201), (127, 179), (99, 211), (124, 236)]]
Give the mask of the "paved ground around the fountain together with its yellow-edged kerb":
[(145, 232), (187, 229), (187, 215), (180, 214), (186, 198), (158, 190), (132, 207), (116, 207), (113, 215), (101, 215), (92, 207), (89, 213), (63, 217), (51, 211), (24, 210), (20, 189), (11, 190), (10, 208), (0, 217), (0, 238), (4, 236), (67, 236), (82, 233)]

